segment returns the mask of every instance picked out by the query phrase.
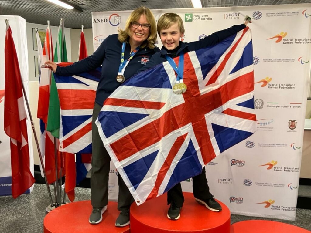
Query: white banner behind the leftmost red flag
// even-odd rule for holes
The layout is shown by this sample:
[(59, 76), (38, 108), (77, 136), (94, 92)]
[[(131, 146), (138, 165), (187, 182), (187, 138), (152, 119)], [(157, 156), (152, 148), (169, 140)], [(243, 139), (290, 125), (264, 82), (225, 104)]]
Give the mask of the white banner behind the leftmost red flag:
[[(6, 24), (4, 19), (9, 20), (13, 40), (16, 47), (18, 63), (20, 66), (21, 76), (29, 99), (29, 81), (28, 81), (28, 50), (26, 41), (26, 20), (20, 16), (0, 15), (0, 196), (12, 195), (12, 176), (11, 176), (11, 152), (10, 138), (4, 132), (4, 44), (6, 34)], [(25, 104), (26, 108), (26, 104)], [(27, 108), (26, 108), (27, 109)], [(28, 115), (28, 113), (27, 113)], [(29, 117), (27, 117), (29, 119)], [(30, 171), (34, 175), (34, 156), (32, 148), (32, 129), (30, 121), (27, 121), (27, 133), (29, 144)], [(26, 193), (32, 191), (33, 186)]]

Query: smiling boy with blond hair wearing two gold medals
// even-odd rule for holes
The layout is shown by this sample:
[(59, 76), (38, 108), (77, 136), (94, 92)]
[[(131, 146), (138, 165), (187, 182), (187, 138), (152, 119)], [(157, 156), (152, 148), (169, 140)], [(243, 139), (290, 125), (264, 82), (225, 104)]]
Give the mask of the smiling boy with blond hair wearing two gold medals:
[[(248, 20), (249, 21), (249, 20)], [(180, 38), (183, 37), (184, 27), (182, 19), (175, 13), (166, 13), (160, 17), (157, 24), (157, 32), (160, 36), (163, 47), (159, 53), (154, 54), (150, 61), (137, 73), (166, 62), (169, 57), (174, 58), (182, 53), (205, 48), (219, 43), (223, 39), (244, 29), (248, 23), (246, 21), (241, 25), (234, 25), (231, 28), (215, 32), (199, 41), (183, 43)], [(250, 21), (249, 21), (250, 22)], [(193, 177), (193, 195), (196, 201), (205, 205), (209, 210), (219, 212), (220, 204), (211, 195), (207, 185), (205, 167), (200, 175)], [(177, 220), (180, 217), (180, 209), (183, 206), (184, 197), (180, 183), (175, 185), (167, 192), (167, 204), (170, 204), (167, 217), (171, 220)]]

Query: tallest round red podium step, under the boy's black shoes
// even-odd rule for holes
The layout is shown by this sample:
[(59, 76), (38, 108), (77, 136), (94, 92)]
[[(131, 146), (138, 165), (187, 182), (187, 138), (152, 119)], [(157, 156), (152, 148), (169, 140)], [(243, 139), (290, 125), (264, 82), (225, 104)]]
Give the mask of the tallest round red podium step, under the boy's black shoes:
[(185, 202), (179, 220), (167, 218), (166, 194), (130, 209), (131, 233), (230, 233), (230, 211), (219, 202), (222, 211), (212, 212), (198, 204), (192, 193), (183, 193)]

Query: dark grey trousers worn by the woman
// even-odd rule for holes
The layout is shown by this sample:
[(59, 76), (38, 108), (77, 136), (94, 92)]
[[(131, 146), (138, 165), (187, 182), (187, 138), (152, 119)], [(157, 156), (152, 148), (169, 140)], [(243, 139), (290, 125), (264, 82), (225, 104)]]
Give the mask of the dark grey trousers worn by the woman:
[[(92, 116), (92, 170), (91, 170), (91, 204), (93, 207), (104, 207), (108, 204), (108, 182), (110, 156), (104, 147), (95, 121), (102, 106), (95, 103)], [(130, 208), (134, 199), (121, 176), (118, 176), (119, 196), (118, 210)]]

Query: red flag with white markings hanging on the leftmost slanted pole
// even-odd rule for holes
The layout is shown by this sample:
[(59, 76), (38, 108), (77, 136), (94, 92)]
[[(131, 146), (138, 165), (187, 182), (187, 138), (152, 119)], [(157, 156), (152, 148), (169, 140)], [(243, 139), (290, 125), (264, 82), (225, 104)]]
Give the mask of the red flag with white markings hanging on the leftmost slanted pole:
[(26, 111), (12, 31), (7, 25), (5, 48), (4, 131), (11, 139), (12, 196), (17, 198), (35, 179), (30, 172)]

